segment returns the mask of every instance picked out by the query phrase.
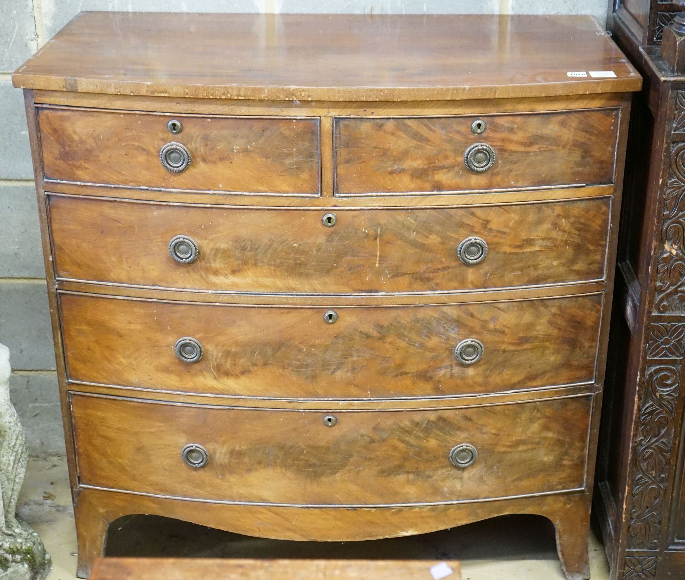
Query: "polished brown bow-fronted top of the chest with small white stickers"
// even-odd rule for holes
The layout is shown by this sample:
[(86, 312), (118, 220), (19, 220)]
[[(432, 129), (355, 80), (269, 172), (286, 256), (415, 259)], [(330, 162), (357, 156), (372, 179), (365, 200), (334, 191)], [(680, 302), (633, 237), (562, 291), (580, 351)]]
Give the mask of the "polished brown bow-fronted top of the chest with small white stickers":
[(34, 90), (288, 101), (549, 97), (641, 86), (588, 16), (472, 14), (84, 12), (12, 81)]

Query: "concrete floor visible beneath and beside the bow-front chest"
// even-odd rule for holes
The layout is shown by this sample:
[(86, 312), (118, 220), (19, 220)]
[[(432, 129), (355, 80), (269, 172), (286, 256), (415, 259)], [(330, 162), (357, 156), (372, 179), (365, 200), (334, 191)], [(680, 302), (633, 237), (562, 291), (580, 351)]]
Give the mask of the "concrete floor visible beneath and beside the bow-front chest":
[[(52, 555), (48, 580), (74, 580), (76, 534), (63, 458), (29, 462), (18, 512), (38, 531)], [(537, 516), (503, 516), (408, 538), (343, 544), (262, 540), (166, 518), (132, 516), (110, 528), (108, 555), (458, 559), (463, 580), (564, 578), (554, 529)], [(592, 580), (609, 578), (596, 529), (590, 535), (590, 570)]]

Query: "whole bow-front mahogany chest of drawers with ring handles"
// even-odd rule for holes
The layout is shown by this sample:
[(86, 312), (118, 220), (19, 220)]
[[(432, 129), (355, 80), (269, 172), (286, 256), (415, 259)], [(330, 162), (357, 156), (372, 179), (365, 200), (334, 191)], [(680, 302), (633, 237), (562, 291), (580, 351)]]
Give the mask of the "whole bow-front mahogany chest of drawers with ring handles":
[(13, 81), (79, 576), (126, 514), (365, 540), (531, 513), (588, 577), (641, 86), (595, 21), (91, 12)]

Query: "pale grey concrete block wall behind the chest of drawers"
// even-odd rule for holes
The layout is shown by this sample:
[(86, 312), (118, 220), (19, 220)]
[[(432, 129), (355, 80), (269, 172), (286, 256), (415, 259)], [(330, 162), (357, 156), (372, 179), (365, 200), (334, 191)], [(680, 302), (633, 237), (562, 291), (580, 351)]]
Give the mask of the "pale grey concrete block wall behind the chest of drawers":
[(0, 342), (12, 352), (12, 401), (35, 455), (64, 453), (38, 212), (23, 97), (10, 76), (82, 10), (591, 14), (606, 0), (2, 0), (0, 4)]

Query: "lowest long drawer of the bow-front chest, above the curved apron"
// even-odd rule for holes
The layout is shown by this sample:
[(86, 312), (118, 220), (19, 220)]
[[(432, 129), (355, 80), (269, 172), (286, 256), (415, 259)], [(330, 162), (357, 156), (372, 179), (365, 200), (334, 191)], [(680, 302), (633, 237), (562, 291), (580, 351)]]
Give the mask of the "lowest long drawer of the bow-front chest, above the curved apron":
[(78, 394), (71, 402), (84, 485), (215, 501), (353, 506), (583, 488), (592, 399), (335, 412), (335, 421), (325, 419), (327, 412)]

